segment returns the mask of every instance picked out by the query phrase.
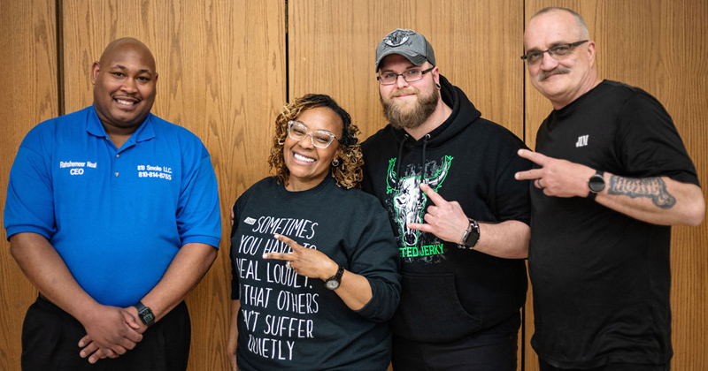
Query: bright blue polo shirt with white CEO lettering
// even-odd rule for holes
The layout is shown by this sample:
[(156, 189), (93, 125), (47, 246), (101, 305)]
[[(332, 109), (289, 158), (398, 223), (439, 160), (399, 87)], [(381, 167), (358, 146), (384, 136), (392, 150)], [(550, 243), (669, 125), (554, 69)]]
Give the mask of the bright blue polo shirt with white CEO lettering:
[(12, 164), (9, 239), (49, 239), (81, 287), (128, 307), (158, 284), (180, 247), (219, 247), (211, 158), (187, 129), (150, 114), (116, 148), (94, 107), (35, 126)]

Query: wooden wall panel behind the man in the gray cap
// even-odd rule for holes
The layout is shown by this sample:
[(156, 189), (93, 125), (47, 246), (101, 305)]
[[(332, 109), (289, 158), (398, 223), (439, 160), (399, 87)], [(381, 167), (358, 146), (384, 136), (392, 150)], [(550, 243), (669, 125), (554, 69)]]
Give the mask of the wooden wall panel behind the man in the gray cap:
[(332, 95), (362, 138), (385, 125), (375, 51), (383, 36), (411, 28), (435, 49), (443, 76), (482, 117), (523, 135), (520, 0), (289, 1), (289, 91)]

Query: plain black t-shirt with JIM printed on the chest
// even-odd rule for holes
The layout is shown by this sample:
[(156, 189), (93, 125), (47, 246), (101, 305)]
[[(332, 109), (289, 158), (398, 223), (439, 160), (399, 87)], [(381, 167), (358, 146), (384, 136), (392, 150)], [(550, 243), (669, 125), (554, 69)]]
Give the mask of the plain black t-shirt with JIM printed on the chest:
[[(603, 81), (539, 128), (536, 151), (629, 178), (698, 185), (671, 117), (636, 87)], [(539, 357), (556, 367), (671, 359), (671, 228), (531, 188), (528, 267)]]

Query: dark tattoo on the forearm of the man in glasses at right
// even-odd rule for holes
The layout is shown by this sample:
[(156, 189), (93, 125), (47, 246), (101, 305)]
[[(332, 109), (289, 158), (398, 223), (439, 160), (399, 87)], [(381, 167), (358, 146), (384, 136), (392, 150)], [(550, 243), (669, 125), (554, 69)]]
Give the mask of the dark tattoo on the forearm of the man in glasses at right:
[(637, 179), (612, 175), (607, 193), (622, 194), (633, 199), (647, 197), (659, 208), (673, 208), (676, 204), (676, 199), (666, 191), (664, 179), (659, 177)]

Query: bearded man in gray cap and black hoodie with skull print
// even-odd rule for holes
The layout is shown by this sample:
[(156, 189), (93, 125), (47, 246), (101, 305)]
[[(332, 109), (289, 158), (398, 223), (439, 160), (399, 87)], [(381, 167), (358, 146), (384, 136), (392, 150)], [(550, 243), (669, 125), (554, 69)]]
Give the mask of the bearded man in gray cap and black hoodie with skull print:
[(484, 118), (396, 29), (376, 49), (389, 125), (362, 144), (366, 192), (389, 210), (402, 259), (391, 322), (396, 370), (516, 370), (527, 276), (531, 163), (519, 138)]

